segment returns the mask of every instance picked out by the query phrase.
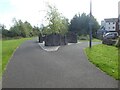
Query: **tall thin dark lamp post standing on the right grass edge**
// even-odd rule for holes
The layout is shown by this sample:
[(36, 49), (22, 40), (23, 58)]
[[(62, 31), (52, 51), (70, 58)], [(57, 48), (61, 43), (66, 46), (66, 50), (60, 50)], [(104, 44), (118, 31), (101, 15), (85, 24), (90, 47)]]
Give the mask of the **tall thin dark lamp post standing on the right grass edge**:
[(90, 0), (90, 21), (89, 21), (89, 47), (92, 47), (92, 1)]

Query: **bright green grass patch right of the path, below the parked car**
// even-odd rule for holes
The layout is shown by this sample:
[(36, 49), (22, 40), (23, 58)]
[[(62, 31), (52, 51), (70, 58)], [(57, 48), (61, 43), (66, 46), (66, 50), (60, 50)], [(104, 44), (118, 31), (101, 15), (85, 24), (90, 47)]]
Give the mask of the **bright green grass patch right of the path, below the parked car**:
[(115, 79), (120, 79), (118, 78), (118, 48), (99, 44), (91, 49), (86, 48), (85, 52), (90, 62)]

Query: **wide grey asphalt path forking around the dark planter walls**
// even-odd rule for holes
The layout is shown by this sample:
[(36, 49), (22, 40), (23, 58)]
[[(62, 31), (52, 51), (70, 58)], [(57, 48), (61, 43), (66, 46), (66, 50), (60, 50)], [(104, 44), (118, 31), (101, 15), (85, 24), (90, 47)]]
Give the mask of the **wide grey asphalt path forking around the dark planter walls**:
[(115, 88), (117, 81), (91, 64), (83, 52), (88, 43), (47, 52), (26, 41), (14, 53), (3, 75), (3, 88)]

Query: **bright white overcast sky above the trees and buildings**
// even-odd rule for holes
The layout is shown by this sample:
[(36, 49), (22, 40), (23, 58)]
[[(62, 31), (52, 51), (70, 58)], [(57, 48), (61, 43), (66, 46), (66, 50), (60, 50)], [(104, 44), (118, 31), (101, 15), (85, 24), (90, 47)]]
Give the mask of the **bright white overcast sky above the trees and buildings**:
[[(92, 14), (99, 23), (104, 18), (117, 18), (118, 1), (92, 0)], [(90, 0), (0, 0), (0, 24), (9, 28), (13, 25), (12, 19), (16, 18), (40, 26), (44, 23), (46, 2), (56, 5), (68, 19), (72, 19), (78, 12), (89, 14), (90, 11)]]

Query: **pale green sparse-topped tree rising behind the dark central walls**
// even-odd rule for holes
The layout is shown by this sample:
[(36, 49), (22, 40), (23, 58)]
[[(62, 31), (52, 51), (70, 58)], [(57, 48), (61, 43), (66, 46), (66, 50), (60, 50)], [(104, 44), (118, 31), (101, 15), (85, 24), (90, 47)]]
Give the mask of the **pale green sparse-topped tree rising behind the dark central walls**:
[(48, 4), (49, 10), (47, 11), (48, 26), (43, 28), (44, 34), (60, 33), (65, 34), (68, 31), (68, 19), (63, 17), (55, 6)]

